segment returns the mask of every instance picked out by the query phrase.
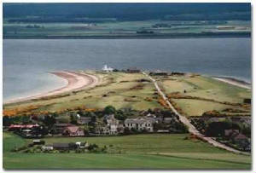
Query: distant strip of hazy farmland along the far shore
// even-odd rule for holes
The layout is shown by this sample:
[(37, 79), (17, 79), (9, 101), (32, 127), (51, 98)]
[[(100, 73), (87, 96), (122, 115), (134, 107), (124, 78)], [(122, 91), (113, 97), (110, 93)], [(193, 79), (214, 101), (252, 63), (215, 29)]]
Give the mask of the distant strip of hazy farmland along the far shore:
[[(118, 21), (106, 20), (104, 22), (77, 22), (77, 23), (26, 23), (3, 22), (3, 37), (142, 37), (137, 31), (148, 30), (161, 37), (168, 34), (201, 34), (202, 32), (222, 32), (218, 26), (236, 26), (225, 33), (249, 33), (250, 23), (242, 20), (229, 20), (226, 24), (197, 24), (197, 21), (168, 21), (168, 20), (140, 20), (140, 21)], [(22, 19), (21, 19), (22, 20)], [(167, 24), (171, 27), (154, 27), (155, 24)], [(240, 29), (239, 29), (240, 28)], [(241, 29), (242, 28), (242, 29)], [(152, 34), (151, 34), (152, 36)], [(153, 35), (154, 36), (154, 35)]]

